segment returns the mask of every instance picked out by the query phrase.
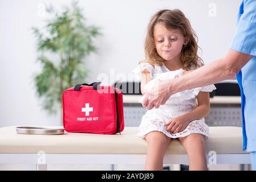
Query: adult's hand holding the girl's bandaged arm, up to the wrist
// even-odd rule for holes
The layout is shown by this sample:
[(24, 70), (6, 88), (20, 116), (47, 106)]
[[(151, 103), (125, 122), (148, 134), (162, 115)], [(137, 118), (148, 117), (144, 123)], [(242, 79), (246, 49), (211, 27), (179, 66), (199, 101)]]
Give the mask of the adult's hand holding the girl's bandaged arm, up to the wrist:
[(164, 105), (172, 95), (170, 92), (171, 81), (172, 80), (157, 80), (156, 86), (149, 90), (149, 92), (146, 92), (146, 96), (142, 102), (143, 107), (151, 110), (153, 107), (159, 108), (160, 105)]

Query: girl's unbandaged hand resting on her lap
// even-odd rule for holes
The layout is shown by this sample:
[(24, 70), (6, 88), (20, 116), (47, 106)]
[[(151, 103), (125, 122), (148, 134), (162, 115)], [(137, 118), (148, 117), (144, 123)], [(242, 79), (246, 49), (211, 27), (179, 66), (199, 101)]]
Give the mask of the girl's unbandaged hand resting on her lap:
[(165, 123), (165, 126), (167, 126), (166, 131), (169, 131), (170, 133), (179, 133), (185, 130), (188, 125), (189, 121), (184, 117), (184, 115), (181, 115)]

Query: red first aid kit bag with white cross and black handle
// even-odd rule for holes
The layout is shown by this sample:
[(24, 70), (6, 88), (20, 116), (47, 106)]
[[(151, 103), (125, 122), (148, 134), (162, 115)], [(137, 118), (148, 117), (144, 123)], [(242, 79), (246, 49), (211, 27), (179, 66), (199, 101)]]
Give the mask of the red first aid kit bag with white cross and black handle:
[[(67, 132), (116, 134), (124, 130), (123, 94), (100, 82), (64, 90), (63, 126)], [(121, 134), (121, 133), (120, 133)]]

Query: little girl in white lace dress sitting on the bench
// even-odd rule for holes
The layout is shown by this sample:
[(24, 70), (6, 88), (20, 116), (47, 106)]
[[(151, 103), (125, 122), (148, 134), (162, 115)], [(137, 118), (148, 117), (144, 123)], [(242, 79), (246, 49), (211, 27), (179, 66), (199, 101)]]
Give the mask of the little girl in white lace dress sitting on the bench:
[[(203, 65), (197, 55), (196, 39), (189, 20), (180, 10), (161, 10), (153, 15), (145, 39), (147, 60), (133, 70), (141, 78), (143, 95), (149, 81), (156, 81), (153, 79), (161, 73), (172, 73), (163, 78), (174, 78)], [(162, 170), (172, 138), (178, 138), (188, 153), (190, 170), (207, 170), (205, 141), (209, 138), (209, 127), (204, 117), (210, 111), (209, 92), (214, 89), (214, 85), (209, 85), (182, 91), (143, 115), (137, 136), (148, 143), (146, 170)]]

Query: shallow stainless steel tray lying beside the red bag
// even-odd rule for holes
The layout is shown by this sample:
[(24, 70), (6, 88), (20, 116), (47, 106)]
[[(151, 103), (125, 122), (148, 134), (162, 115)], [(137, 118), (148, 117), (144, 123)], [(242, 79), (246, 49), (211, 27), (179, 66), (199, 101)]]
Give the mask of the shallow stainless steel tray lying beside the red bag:
[(64, 134), (63, 128), (53, 127), (16, 127), (18, 134), (37, 134), (37, 135), (62, 135)]

